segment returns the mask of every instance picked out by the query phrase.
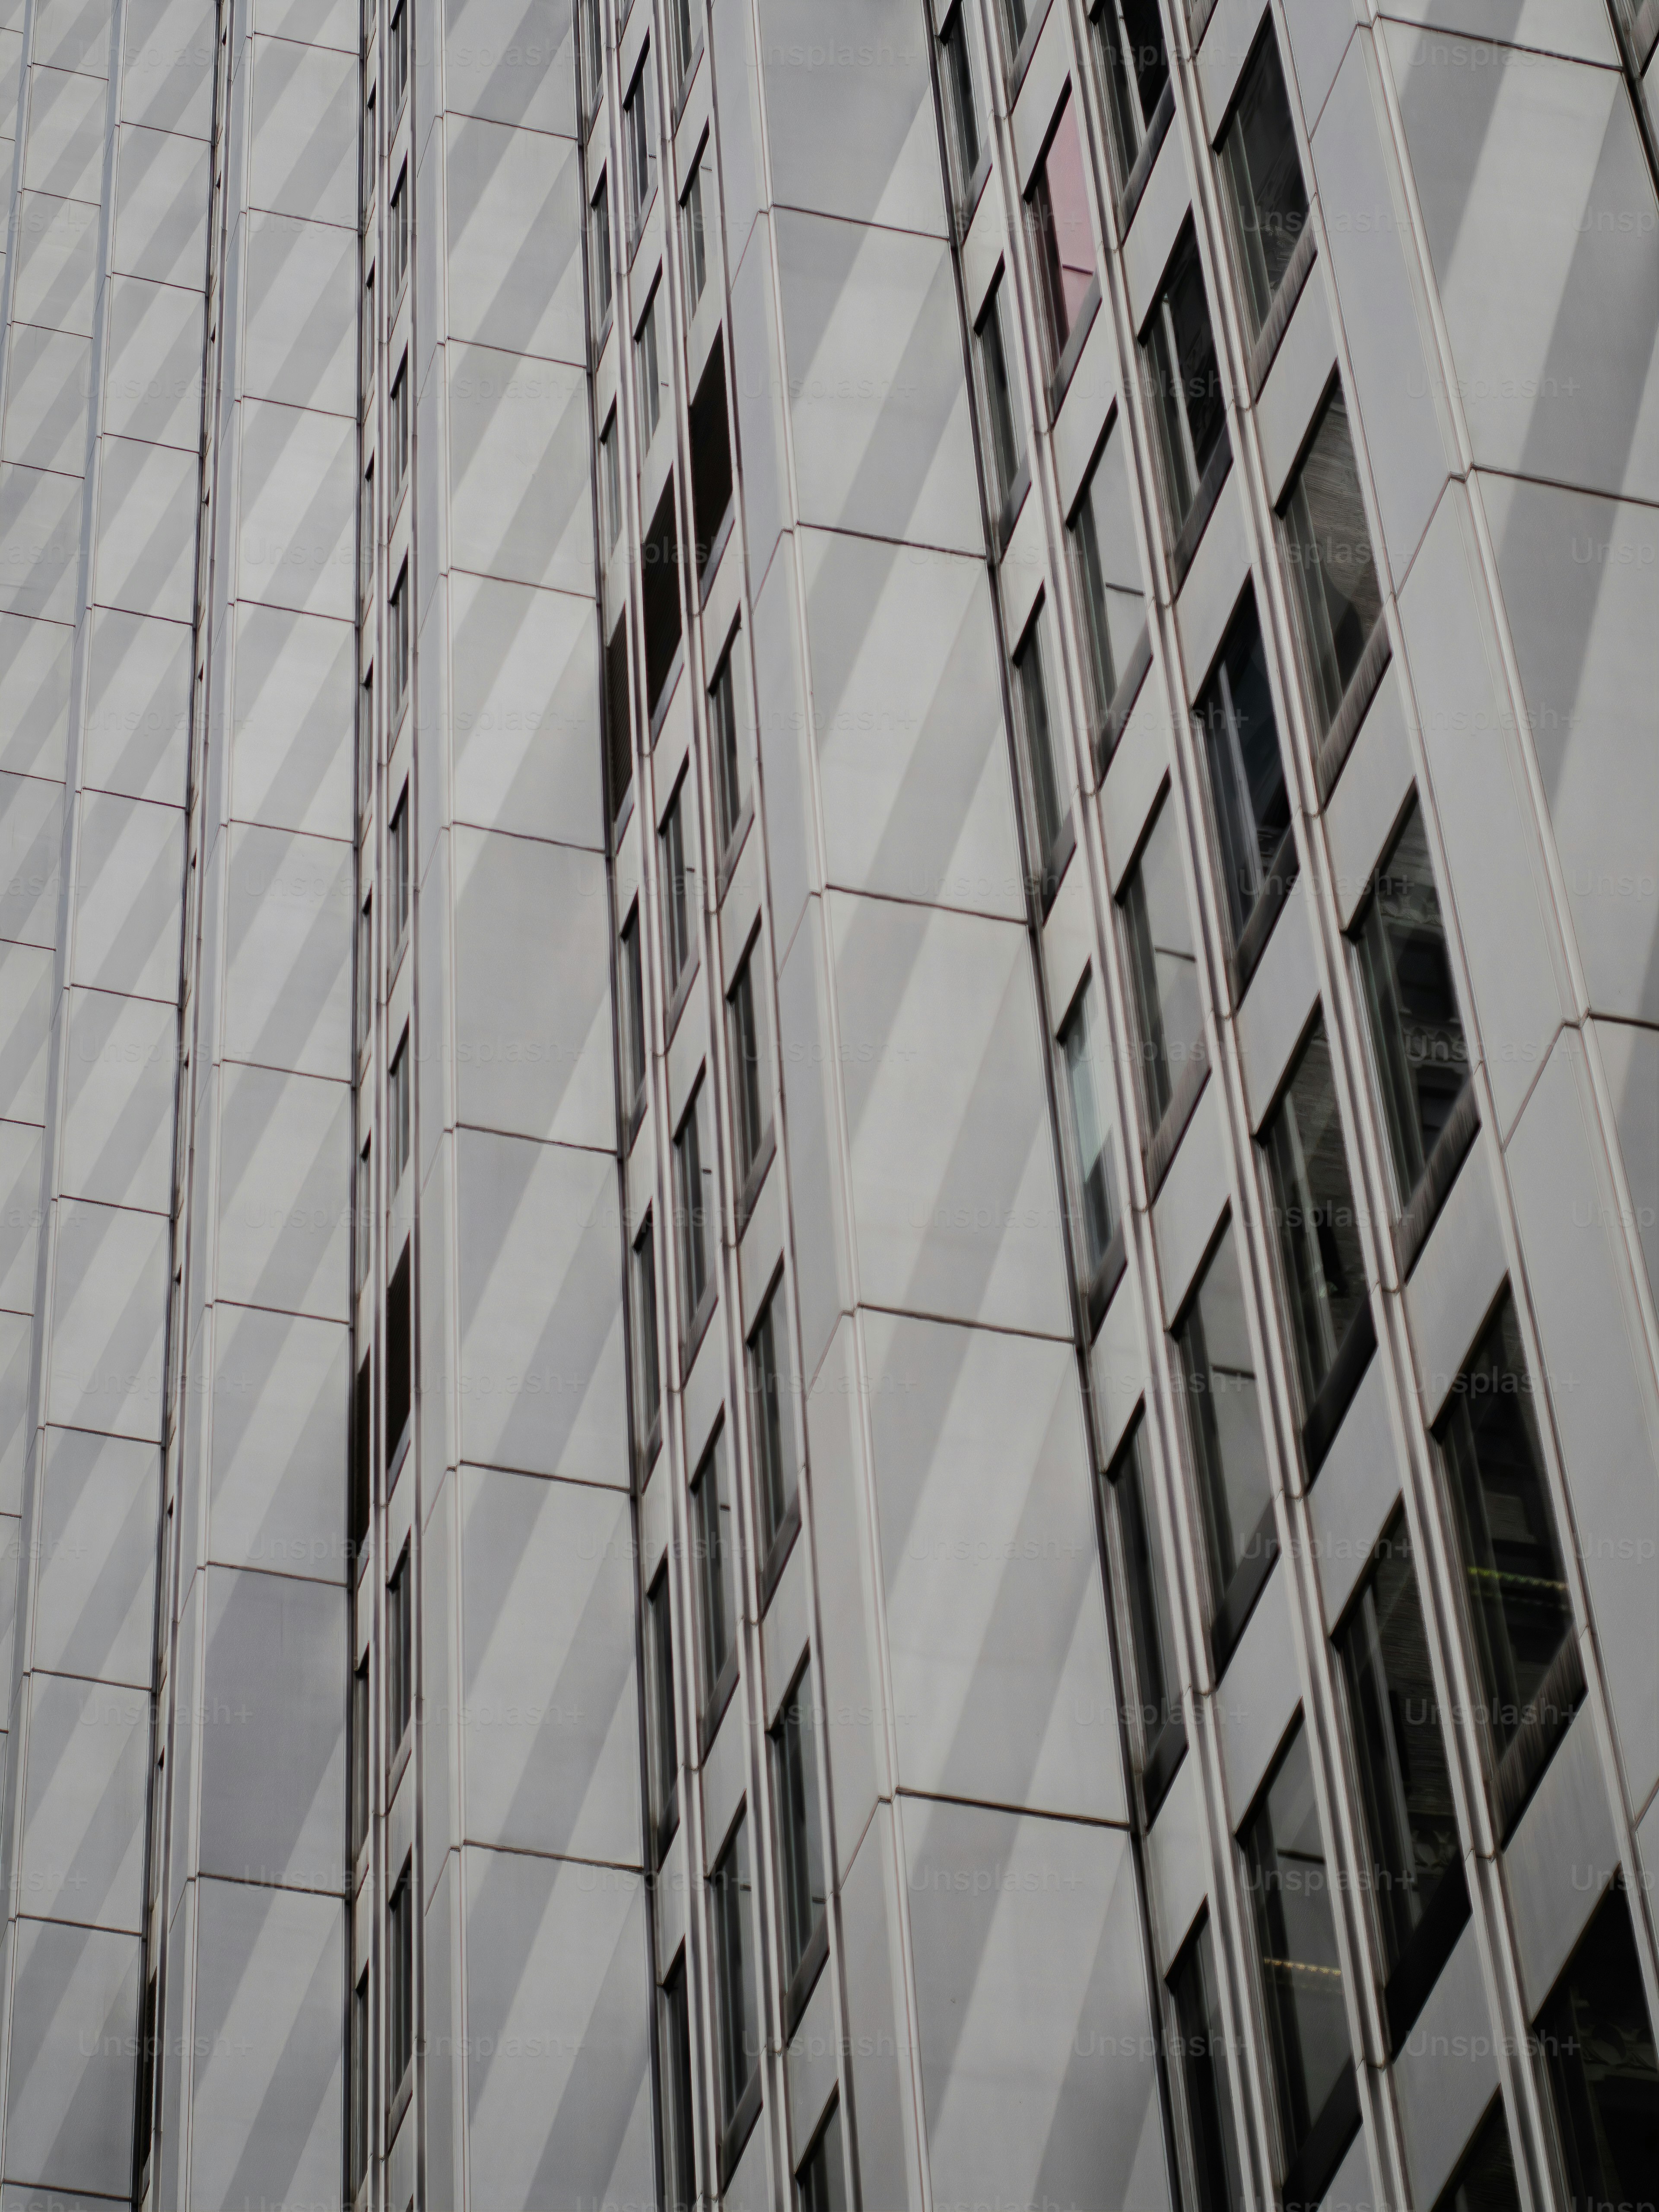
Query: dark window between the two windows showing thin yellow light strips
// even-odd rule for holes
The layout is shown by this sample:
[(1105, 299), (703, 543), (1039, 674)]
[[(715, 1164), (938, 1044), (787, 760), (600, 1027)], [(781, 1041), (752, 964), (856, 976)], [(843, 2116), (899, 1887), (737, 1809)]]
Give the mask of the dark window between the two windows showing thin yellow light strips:
[(1460, 1851), (1422, 1593), (1402, 1515), (1376, 1548), (1340, 1655), (1383, 1955), (1394, 1969)]

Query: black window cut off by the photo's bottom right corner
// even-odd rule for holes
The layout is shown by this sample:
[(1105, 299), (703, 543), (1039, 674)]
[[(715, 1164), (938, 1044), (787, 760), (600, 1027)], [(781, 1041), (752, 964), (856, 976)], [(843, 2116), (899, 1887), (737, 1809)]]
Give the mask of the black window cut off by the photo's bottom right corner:
[(1659, 2062), (1624, 1889), (1597, 1907), (1537, 2026), (1568, 2203), (1652, 2203)]

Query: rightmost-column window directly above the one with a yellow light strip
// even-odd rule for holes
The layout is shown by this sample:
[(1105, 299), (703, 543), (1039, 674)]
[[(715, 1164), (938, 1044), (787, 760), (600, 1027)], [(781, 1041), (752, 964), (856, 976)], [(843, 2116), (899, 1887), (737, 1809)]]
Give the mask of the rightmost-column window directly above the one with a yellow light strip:
[(1405, 1206), (1469, 1082), (1447, 925), (1416, 801), (1383, 856), (1354, 942), (1394, 1197)]

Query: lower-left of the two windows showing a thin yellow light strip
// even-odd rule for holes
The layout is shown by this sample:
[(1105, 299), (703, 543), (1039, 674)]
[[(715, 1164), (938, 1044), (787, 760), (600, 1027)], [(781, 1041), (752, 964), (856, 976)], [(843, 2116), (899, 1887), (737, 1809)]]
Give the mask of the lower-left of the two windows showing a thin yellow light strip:
[[(1325, 1865), (1314, 1767), (1301, 1721), (1239, 1840), (1256, 1924), (1256, 1964), (1279, 2090), (1279, 2126), (1285, 2159), (1294, 2170), (1329, 2097), (1345, 2093), (1354, 2097), (1358, 2121), (1332, 1874)], [(1325, 2181), (1329, 2174), (1307, 2177), (1310, 2199), (1325, 2194)], [(1292, 2190), (1287, 2181), (1285, 2197), (1292, 2194), (1301, 2190)]]

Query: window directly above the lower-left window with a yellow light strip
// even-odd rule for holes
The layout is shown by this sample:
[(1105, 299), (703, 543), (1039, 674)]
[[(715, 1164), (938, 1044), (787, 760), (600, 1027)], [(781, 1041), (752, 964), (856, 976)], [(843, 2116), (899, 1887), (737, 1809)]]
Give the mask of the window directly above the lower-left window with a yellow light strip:
[(1221, 1232), (1175, 1343), (1210, 1546), (1212, 1641), (1230, 1650), (1279, 1548), (1232, 1223)]

